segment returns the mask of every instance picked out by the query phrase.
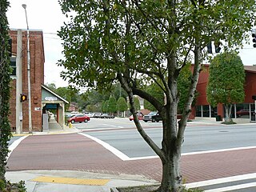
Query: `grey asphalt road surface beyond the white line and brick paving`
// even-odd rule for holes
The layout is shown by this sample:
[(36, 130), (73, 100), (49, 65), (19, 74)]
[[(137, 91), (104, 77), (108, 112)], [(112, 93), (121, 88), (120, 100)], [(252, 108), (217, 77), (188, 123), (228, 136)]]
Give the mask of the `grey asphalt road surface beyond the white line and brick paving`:
[[(150, 149), (150, 146), (147, 145), (134, 128), (134, 122), (125, 120), (93, 118), (86, 125), (81, 123), (74, 126), (85, 130), (86, 134), (98, 138), (110, 144), (110, 146), (114, 146), (114, 148), (130, 158), (154, 156), (154, 151)], [(162, 123), (142, 122), (142, 126), (146, 127), (146, 133), (161, 147)], [(254, 124), (232, 126), (189, 125), (186, 128), (182, 153), (256, 146), (255, 132)]]

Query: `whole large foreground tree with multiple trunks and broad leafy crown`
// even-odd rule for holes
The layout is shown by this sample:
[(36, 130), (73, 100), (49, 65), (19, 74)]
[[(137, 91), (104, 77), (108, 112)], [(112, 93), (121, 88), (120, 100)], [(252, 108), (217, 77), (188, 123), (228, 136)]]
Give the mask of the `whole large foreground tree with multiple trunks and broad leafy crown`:
[[(142, 138), (162, 161), (158, 191), (182, 187), (180, 158), (186, 122), (206, 45), (222, 39), (227, 45), (242, 43), (254, 24), (254, 1), (245, 0), (59, 0), (70, 16), (58, 35), (63, 41), (66, 68), (63, 78), (78, 86), (106, 89), (121, 83)], [(235, 34), (235, 35), (234, 35)], [(194, 58), (190, 89), (177, 123), (178, 77)], [(191, 62), (191, 61), (190, 61)], [(166, 96), (159, 101), (146, 91), (154, 83)], [(134, 108), (134, 95), (150, 102), (162, 116), (162, 146), (143, 130)]]

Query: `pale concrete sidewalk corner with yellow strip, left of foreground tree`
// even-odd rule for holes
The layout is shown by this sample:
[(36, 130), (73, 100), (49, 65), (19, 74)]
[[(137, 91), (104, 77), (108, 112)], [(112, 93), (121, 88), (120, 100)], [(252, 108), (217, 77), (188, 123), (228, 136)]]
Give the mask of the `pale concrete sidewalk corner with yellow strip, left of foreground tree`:
[(158, 184), (139, 175), (94, 174), (74, 170), (7, 171), (10, 182), (25, 181), (27, 192), (118, 192), (115, 187)]

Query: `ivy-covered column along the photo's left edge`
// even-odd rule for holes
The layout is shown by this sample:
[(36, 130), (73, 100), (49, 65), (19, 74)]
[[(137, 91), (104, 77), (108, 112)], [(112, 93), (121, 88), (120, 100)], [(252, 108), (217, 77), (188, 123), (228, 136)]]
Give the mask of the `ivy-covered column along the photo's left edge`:
[(9, 115), (10, 100), (10, 39), (6, 11), (9, 2), (0, 1), (0, 190), (5, 186), (6, 158), (11, 137)]

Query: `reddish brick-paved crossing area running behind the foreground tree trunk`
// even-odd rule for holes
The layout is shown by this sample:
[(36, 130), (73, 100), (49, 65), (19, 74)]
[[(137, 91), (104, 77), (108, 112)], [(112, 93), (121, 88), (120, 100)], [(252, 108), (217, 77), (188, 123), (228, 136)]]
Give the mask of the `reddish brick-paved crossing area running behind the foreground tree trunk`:
[[(68, 141), (68, 142), (66, 142)], [(26, 155), (24, 155), (26, 154)], [(256, 149), (182, 156), (186, 182), (256, 173)], [(97, 142), (79, 134), (30, 136), (10, 155), (8, 170), (80, 170), (138, 174), (161, 181), (159, 158), (123, 162)]]

